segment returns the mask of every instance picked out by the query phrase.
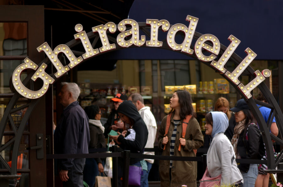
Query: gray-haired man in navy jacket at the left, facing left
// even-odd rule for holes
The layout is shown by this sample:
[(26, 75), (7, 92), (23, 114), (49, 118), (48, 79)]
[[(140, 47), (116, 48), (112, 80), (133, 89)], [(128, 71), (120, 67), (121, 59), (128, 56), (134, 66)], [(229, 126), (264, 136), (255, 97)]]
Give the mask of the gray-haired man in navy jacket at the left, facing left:
[[(76, 83), (62, 83), (58, 94), (64, 106), (61, 120), (54, 132), (56, 154), (88, 153), (90, 141), (88, 117), (77, 101), (80, 87)], [(85, 158), (68, 158), (58, 161), (63, 186), (83, 186)]]

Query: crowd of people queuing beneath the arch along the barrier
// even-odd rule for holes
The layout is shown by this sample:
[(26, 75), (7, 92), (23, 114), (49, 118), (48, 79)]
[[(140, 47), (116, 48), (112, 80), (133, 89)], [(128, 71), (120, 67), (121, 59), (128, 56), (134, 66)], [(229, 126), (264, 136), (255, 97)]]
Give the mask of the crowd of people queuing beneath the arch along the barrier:
[[(110, 131), (109, 144), (116, 144), (131, 153), (154, 155), (144, 152), (153, 148), (156, 134), (158, 147), (163, 156), (196, 157), (197, 149), (208, 141), (207, 171), (209, 177), (219, 176), (219, 184), (234, 186), (267, 187), (269, 174), (265, 165), (236, 163), (236, 159), (266, 159), (263, 138), (257, 121), (244, 99), (229, 108), (227, 99), (216, 100), (214, 112), (205, 116), (203, 133), (192, 107), (190, 93), (175, 91), (170, 99), (170, 112), (159, 128), (149, 107), (145, 106), (139, 93), (127, 97), (118, 93), (111, 99), (114, 109), (103, 125), (101, 110), (97, 105), (82, 109), (77, 101), (80, 88), (75, 83), (62, 83), (59, 93), (64, 106), (61, 120), (54, 132), (54, 151), (57, 154), (83, 154), (90, 148), (106, 147), (105, 138)], [(261, 97), (261, 98), (260, 98)], [(262, 94), (257, 98), (265, 102)], [(258, 106), (268, 121), (270, 109)], [(158, 132), (157, 132), (158, 129)], [(270, 132), (278, 135), (273, 119)], [(275, 153), (276, 154), (276, 153)], [(148, 186), (148, 174), (153, 159), (130, 158), (130, 165), (142, 167), (140, 186)], [(105, 158), (69, 158), (58, 161), (58, 172), (63, 186), (95, 185), (95, 178), (104, 171)], [(118, 159), (118, 186), (122, 186), (123, 160)], [(159, 160), (161, 186), (197, 186), (197, 162)]]

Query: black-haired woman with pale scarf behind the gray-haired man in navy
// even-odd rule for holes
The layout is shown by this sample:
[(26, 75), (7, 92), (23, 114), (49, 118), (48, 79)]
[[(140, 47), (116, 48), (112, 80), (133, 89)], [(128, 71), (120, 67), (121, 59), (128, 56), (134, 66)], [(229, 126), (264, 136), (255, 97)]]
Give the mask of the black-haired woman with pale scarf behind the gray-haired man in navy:
[[(88, 148), (103, 148), (106, 147), (104, 133), (104, 126), (101, 124), (101, 110), (97, 105), (90, 105), (85, 107), (86, 115), (89, 118), (89, 134), (90, 142)], [(84, 167), (84, 181), (89, 186), (94, 186), (95, 177), (99, 172), (104, 171), (104, 158), (86, 158), (86, 165)]]

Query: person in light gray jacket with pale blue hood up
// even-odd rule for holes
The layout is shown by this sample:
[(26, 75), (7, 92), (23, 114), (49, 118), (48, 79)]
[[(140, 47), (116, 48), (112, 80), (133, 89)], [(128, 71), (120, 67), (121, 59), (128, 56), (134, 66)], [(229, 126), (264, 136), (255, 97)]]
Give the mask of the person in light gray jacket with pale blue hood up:
[(220, 184), (242, 186), (243, 177), (237, 168), (233, 146), (224, 135), (229, 124), (227, 115), (223, 112), (209, 112), (205, 120), (205, 134), (212, 137), (207, 152), (209, 175), (217, 177), (221, 174)]

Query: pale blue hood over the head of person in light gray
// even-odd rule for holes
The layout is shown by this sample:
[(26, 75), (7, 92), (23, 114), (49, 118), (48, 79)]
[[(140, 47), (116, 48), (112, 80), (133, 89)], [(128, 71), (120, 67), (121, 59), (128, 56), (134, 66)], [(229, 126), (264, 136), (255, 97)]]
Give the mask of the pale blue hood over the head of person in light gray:
[(216, 134), (226, 131), (229, 125), (229, 120), (227, 115), (223, 112), (210, 112), (210, 113), (212, 114), (212, 120), (213, 120), (211, 136), (212, 138), (214, 138)]

